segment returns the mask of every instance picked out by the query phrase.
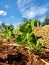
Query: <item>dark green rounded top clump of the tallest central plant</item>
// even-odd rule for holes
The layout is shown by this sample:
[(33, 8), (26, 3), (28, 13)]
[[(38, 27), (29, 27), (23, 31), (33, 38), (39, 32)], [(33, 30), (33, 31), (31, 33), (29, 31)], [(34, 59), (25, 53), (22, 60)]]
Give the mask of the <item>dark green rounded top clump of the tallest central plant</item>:
[(34, 21), (31, 20), (21, 24), (19, 30), (24, 33), (30, 33), (32, 32), (33, 28), (34, 28)]

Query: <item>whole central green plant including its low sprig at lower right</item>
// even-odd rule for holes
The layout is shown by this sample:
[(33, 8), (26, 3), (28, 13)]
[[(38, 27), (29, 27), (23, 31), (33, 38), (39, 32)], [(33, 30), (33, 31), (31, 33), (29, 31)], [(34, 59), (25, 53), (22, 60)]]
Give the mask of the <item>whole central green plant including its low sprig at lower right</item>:
[(40, 52), (41, 46), (44, 42), (37, 42), (38, 39), (42, 36), (36, 37), (34, 35), (34, 22), (35, 21), (33, 20), (29, 20), (20, 26), (19, 31), (21, 32), (21, 34), (17, 36), (17, 43), (20, 43), (22, 45), (25, 43), (25, 45), (27, 45), (29, 49), (33, 49), (36, 52)]

